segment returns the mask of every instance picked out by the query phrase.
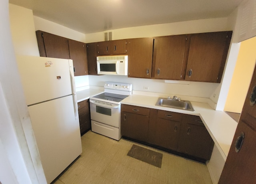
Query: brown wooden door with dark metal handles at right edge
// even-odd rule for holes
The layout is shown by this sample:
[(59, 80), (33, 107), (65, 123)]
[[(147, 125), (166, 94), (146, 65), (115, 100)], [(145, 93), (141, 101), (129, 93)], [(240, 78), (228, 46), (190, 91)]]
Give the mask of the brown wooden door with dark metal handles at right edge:
[(219, 184), (256, 183), (256, 69)]

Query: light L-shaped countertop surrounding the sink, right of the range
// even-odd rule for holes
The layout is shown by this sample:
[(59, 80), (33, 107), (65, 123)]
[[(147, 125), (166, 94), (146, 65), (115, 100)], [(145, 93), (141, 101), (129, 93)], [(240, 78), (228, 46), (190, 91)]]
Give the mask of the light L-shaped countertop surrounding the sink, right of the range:
[(237, 122), (234, 121), (234, 119), (223, 111), (215, 111), (207, 103), (191, 101), (195, 111), (186, 111), (156, 106), (155, 104), (157, 100), (158, 97), (130, 95), (122, 100), (121, 104), (200, 116), (206, 129), (214, 140), (215, 145), (222, 154), (222, 157), (226, 160), (237, 127)]

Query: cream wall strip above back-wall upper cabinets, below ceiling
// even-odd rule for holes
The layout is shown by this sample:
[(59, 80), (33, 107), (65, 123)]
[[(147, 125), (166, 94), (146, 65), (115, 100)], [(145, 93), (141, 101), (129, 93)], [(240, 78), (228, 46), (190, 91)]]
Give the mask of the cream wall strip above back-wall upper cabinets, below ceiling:
[[(192, 20), (169, 24), (155, 24), (150, 26), (123, 28), (117, 30), (109, 30), (106, 32), (112, 32), (112, 40), (120, 40), (127, 38), (144, 38), (200, 32), (227, 31), (230, 30), (228, 28), (227, 20), (228, 18)], [(104, 41), (104, 32), (86, 34), (86, 43), (101, 41)]]

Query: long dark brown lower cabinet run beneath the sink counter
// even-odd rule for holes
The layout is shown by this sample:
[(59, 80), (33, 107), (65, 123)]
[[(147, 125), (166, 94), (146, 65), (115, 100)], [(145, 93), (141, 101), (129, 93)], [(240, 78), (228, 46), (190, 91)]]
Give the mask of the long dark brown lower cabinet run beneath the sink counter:
[(214, 146), (200, 117), (132, 105), (121, 105), (121, 134), (200, 162)]

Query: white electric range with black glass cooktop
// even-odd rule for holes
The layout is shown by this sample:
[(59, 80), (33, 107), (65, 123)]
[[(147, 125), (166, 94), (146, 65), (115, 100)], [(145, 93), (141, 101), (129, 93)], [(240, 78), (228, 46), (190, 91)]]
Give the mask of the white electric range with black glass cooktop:
[(90, 97), (92, 131), (120, 140), (121, 101), (132, 94), (132, 84), (106, 82), (104, 93)]

